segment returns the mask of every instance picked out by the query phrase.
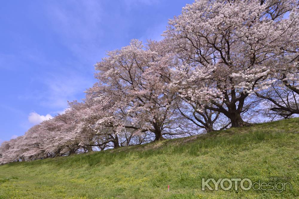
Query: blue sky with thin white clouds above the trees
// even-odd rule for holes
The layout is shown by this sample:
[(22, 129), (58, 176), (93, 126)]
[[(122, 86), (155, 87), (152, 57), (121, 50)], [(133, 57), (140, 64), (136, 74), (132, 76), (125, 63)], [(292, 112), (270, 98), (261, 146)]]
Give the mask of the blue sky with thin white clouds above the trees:
[(94, 64), (133, 38), (161, 39), (193, 1), (2, 1), (0, 143), (84, 98)]

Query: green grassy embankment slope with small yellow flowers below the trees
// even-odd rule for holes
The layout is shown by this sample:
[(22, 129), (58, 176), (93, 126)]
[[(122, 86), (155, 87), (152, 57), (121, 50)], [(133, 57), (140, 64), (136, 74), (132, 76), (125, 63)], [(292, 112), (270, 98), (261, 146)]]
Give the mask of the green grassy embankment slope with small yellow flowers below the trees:
[[(0, 166), (0, 198), (299, 198), (299, 118)], [(292, 191), (201, 191), (201, 178), (291, 177)], [(167, 185), (170, 192), (167, 192)]]

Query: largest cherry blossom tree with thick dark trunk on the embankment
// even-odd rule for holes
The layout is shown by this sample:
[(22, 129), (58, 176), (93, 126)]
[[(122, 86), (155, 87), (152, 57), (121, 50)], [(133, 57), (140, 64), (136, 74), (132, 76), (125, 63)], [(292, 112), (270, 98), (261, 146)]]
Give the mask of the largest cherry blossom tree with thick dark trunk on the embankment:
[(182, 60), (173, 87), (202, 109), (227, 116), (232, 127), (248, 125), (241, 117), (248, 96), (267, 89), (281, 51), (297, 36), (296, 6), (298, 1), (288, 0), (186, 5), (164, 32)]

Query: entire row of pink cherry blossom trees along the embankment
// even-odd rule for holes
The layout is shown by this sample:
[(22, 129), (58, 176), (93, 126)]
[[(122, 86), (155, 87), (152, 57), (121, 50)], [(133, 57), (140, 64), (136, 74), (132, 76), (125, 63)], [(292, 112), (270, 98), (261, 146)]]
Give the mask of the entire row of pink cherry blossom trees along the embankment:
[(83, 102), (0, 147), (0, 162), (86, 153), (299, 114), (295, 0), (200, 0), (162, 41), (108, 52)]

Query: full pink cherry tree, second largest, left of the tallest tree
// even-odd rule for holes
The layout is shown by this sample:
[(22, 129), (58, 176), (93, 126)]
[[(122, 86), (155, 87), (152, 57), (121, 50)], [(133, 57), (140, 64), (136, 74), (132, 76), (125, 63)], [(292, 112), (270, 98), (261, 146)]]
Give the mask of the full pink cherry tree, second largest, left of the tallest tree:
[(96, 100), (103, 103), (108, 97), (114, 102), (112, 115), (106, 122), (117, 129), (116, 133), (123, 128), (138, 133), (150, 131), (155, 134), (155, 140), (161, 140), (162, 135), (173, 134), (170, 129), (177, 128), (170, 119), (176, 96), (169, 92), (167, 84), (172, 58), (163, 47), (163, 42), (150, 41), (145, 47), (140, 41), (132, 40), (129, 46), (108, 52), (108, 57), (97, 63), (99, 84), (93, 91), (106, 85), (108, 96)]

